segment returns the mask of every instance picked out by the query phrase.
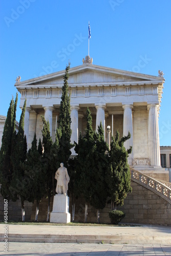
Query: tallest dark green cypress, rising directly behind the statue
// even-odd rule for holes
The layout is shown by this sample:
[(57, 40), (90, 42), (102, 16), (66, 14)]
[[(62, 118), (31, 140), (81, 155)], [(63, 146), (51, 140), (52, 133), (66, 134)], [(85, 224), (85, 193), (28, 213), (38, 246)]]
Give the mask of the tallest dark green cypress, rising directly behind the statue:
[(58, 161), (68, 167), (68, 160), (71, 155), (71, 111), (70, 111), (70, 95), (68, 78), (70, 63), (66, 67), (66, 73), (63, 76), (62, 96), (60, 101), (60, 114), (58, 119), (58, 128), (56, 129), (56, 141), (59, 145), (58, 148)]

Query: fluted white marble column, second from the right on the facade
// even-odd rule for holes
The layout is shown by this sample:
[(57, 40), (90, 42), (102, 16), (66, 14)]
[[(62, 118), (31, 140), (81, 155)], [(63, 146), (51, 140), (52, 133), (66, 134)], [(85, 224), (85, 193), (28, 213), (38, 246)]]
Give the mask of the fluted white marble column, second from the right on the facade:
[(122, 105), (123, 108), (123, 136), (127, 136), (128, 133), (131, 133), (131, 138), (126, 140), (124, 142), (124, 147), (127, 149), (132, 146), (132, 153), (129, 154), (129, 157), (127, 158), (127, 162), (129, 165), (133, 165), (133, 159), (134, 159), (134, 154), (133, 154), (133, 115), (132, 115), (132, 109), (133, 105), (131, 104), (125, 104)]

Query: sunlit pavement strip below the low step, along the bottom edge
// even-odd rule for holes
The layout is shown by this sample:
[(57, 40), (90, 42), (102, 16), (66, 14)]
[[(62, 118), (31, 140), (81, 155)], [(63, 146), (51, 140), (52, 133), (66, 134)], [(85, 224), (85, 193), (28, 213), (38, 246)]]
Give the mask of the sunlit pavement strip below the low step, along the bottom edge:
[(73, 243), (18, 243), (10, 242), (8, 252), (1, 245), (1, 256), (163, 256), (171, 255), (169, 245), (153, 244), (73, 244)]

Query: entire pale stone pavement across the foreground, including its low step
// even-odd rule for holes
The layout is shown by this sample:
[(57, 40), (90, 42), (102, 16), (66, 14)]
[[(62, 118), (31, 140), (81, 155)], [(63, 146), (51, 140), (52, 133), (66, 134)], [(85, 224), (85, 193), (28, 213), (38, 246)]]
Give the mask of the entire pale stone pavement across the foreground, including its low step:
[[(8, 227), (8, 228), (7, 228)], [(8, 230), (8, 252), (4, 233)], [(1, 255), (171, 255), (171, 227), (0, 224)]]

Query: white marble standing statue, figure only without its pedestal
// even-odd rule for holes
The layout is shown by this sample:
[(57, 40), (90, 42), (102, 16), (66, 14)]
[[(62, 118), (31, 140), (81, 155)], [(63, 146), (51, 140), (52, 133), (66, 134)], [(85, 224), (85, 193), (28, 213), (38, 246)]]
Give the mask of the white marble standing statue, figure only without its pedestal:
[(68, 175), (67, 168), (63, 166), (63, 163), (60, 163), (60, 167), (57, 169), (55, 173), (55, 179), (57, 180), (56, 193), (58, 195), (67, 196), (68, 183), (70, 181), (70, 177)]

